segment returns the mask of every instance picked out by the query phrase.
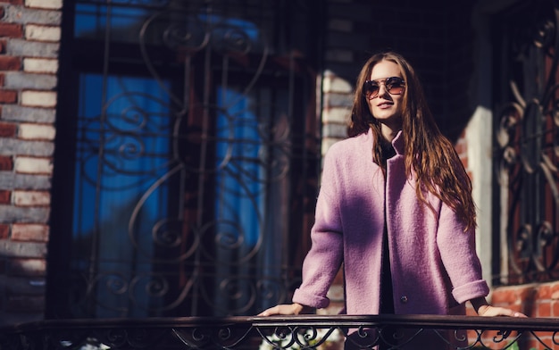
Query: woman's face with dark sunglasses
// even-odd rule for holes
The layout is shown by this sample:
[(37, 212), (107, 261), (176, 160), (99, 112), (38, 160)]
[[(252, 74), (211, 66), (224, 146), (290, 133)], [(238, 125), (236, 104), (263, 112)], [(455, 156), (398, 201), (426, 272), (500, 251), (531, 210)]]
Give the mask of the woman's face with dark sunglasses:
[[(388, 79), (395, 77), (396, 79)], [(368, 83), (372, 93), (367, 96), (367, 102), (372, 116), (393, 131), (401, 129), (402, 126), (405, 82), (401, 78), (402, 73), (396, 63), (380, 61), (372, 67), (371, 82)]]

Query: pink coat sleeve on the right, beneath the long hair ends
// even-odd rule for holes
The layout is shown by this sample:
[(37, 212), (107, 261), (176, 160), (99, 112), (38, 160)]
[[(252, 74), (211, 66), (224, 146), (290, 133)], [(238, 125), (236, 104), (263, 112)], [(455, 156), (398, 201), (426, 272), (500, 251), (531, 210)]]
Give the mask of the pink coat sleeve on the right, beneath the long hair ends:
[(463, 223), (446, 204), (442, 204), (440, 212), (437, 241), (455, 300), (462, 304), (488, 296), (489, 287), (481, 277), (481, 263), (475, 250), (474, 230), (464, 232)]

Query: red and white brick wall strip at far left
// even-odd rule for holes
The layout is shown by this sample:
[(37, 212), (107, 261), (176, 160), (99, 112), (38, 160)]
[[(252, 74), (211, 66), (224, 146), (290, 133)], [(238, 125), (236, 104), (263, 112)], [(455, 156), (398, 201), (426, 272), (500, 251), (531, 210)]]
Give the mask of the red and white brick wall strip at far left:
[(44, 317), (61, 6), (0, 0), (0, 325)]

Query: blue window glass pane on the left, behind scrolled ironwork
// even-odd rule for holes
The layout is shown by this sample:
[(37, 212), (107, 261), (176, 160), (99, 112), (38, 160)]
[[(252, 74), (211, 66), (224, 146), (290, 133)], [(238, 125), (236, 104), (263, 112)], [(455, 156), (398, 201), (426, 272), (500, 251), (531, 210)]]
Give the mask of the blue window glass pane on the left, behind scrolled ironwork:
[(72, 263), (90, 271), (103, 317), (129, 298), (133, 274), (152, 271), (152, 230), (169, 210), (171, 114), (154, 79), (82, 74), (79, 90)]

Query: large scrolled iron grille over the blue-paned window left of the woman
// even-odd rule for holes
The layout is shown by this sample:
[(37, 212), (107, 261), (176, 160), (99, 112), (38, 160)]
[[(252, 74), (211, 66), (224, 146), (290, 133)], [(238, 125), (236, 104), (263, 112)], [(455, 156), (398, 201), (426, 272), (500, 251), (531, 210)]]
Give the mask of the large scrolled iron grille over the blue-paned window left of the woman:
[(100, 27), (76, 37), (107, 46), (101, 112), (79, 115), (68, 317), (254, 314), (288, 300), (300, 275), (289, 254), (303, 246), (291, 241), (306, 237), (316, 193), (316, 79), (271, 40), (288, 45), (274, 21), (313, 3), (76, 4), (77, 28), (80, 15)]

